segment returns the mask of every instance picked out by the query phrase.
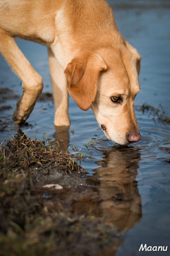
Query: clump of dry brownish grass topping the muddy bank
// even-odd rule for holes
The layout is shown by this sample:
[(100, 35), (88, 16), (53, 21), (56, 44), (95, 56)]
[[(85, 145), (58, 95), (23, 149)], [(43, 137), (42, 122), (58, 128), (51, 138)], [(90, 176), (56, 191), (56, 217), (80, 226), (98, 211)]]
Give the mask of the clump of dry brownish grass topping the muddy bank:
[(0, 160), (0, 175), (6, 170), (17, 172), (22, 170), (31, 172), (34, 169), (42, 170), (52, 164), (67, 173), (79, 172), (80, 166), (74, 161), (73, 156), (60, 151), (57, 142), (46, 146), (44, 139), (41, 141), (31, 140), (24, 135), (8, 140), (7, 147), (6, 155), (1, 152), (0, 159), (2, 158), (4, 161)]

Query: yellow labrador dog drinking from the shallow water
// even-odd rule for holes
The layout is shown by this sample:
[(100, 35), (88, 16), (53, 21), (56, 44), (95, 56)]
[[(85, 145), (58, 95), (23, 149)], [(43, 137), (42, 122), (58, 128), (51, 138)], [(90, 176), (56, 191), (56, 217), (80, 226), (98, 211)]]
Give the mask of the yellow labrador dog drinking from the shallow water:
[(69, 92), (79, 108), (92, 108), (110, 140), (127, 145), (141, 139), (134, 112), (141, 56), (121, 36), (105, 0), (0, 1), (0, 52), (23, 82), (13, 115), (22, 124), (43, 81), (14, 37), (48, 47), (55, 125), (70, 125)]

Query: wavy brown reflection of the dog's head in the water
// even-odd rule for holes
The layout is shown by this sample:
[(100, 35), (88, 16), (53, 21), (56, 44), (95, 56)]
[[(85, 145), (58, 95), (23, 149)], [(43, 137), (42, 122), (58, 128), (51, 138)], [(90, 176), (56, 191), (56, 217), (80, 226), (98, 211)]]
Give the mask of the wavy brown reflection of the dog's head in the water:
[(141, 197), (137, 188), (137, 164), (140, 156), (135, 148), (106, 151), (103, 160), (87, 183), (96, 185), (102, 201), (100, 216), (106, 216), (123, 231), (136, 225), (142, 217)]

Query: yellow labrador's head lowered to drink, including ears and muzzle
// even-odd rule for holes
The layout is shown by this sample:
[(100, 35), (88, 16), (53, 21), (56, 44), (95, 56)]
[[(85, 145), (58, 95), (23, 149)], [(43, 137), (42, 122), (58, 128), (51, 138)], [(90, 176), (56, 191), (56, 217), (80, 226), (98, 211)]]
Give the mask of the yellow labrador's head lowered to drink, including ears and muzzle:
[(92, 110), (106, 136), (120, 145), (141, 139), (134, 99), (140, 90), (141, 56), (127, 41), (73, 59), (65, 69), (68, 91), (83, 110)]

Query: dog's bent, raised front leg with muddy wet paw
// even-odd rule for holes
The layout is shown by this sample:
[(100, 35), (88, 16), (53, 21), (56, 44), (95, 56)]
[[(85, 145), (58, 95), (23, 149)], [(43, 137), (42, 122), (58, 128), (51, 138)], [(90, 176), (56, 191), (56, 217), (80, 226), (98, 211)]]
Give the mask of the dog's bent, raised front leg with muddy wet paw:
[(33, 69), (24, 54), (18, 48), (15, 39), (0, 28), (0, 52), (7, 60), (13, 71), (22, 80), (24, 93), (17, 102), (13, 120), (22, 124), (32, 112), (38, 96), (41, 94), (42, 77)]

